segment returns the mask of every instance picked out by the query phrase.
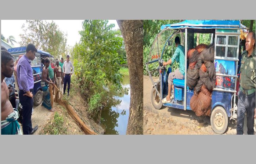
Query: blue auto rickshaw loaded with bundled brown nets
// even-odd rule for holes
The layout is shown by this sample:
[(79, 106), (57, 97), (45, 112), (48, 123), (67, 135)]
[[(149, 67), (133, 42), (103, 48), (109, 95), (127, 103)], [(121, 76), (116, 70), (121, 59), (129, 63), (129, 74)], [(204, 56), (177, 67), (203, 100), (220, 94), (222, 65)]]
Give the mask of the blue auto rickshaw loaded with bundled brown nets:
[[(194, 91), (187, 87), (187, 51), (194, 48), (195, 33), (211, 34), (211, 43), (214, 44), (214, 65), (216, 70), (216, 84), (212, 92), (210, 123), (217, 134), (223, 134), (229, 120), (237, 119), (237, 74), (240, 30), (243, 30), (240, 21), (218, 20), (186, 20), (180, 23), (161, 26), (161, 32), (155, 37), (145, 63), (149, 78), (152, 81), (151, 101), (156, 109), (162, 106), (183, 110), (191, 110), (190, 100)], [(243, 26), (244, 27), (244, 26)], [(173, 40), (177, 35), (185, 36), (185, 79), (173, 80), (174, 98), (170, 103), (162, 103), (168, 93), (168, 74), (172, 68), (163, 66), (163, 57), (173, 54)], [(168, 48), (169, 47), (169, 48)], [(171, 53), (172, 52), (172, 53)], [(227, 71), (228, 70), (228, 71)], [(152, 74), (159, 75), (158, 80)]]

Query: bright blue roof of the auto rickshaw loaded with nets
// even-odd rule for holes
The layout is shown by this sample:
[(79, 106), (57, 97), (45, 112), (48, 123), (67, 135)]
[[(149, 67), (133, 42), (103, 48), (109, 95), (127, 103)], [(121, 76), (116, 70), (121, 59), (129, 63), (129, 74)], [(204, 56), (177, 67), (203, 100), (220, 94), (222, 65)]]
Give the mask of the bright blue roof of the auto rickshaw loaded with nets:
[(234, 20), (185, 20), (180, 23), (162, 25), (161, 30), (165, 28), (170, 29), (181, 29), (183, 31), (185, 28), (191, 29), (238, 29), (240, 28), (240, 21)]

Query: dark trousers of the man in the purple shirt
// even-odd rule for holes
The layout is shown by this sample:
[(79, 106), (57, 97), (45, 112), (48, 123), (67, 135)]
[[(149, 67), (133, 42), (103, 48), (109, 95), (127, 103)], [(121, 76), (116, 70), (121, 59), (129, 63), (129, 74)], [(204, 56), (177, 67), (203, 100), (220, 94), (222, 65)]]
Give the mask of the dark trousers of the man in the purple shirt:
[[(30, 92), (33, 93), (31, 90)], [(22, 131), (23, 134), (29, 134), (32, 132), (32, 122), (31, 122), (31, 114), (32, 114), (32, 107), (33, 107), (33, 98), (29, 96), (24, 96), (26, 92), (23, 90), (19, 91), (19, 102), (22, 105), (23, 110), (23, 117), (22, 117)]]

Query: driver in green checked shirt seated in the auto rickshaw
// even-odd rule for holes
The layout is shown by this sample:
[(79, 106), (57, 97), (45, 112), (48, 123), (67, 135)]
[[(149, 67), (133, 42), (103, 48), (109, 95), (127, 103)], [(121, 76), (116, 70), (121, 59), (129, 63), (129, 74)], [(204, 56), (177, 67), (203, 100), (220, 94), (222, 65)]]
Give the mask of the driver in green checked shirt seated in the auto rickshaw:
[(163, 62), (163, 65), (172, 65), (174, 61), (179, 63), (179, 69), (174, 70), (174, 72), (169, 73), (168, 75), (168, 95), (162, 100), (162, 103), (171, 102), (171, 89), (173, 89), (173, 79), (184, 79), (185, 76), (185, 48), (180, 45), (180, 38), (175, 37), (176, 50), (173, 54), (173, 57), (167, 62)]

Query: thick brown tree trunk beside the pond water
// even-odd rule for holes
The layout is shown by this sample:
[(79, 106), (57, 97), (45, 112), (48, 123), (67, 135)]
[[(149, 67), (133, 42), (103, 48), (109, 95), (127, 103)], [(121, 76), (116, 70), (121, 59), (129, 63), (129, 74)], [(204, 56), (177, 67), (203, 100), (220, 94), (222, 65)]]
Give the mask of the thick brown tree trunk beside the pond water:
[(143, 21), (117, 20), (125, 42), (131, 99), (126, 134), (143, 134)]

